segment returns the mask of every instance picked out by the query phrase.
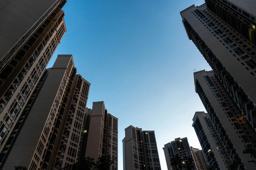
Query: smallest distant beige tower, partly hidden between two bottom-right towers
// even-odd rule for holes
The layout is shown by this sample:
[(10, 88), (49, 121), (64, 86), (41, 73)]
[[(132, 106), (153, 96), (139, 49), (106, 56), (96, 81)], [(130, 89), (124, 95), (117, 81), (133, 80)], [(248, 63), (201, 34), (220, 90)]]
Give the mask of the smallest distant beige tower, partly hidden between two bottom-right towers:
[(207, 161), (203, 150), (190, 147), (197, 170), (207, 170)]

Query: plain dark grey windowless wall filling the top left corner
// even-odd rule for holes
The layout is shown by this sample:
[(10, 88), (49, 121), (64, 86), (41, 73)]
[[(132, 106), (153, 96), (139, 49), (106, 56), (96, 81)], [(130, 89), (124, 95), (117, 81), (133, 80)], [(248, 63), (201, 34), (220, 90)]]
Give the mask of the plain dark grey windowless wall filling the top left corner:
[(57, 0), (0, 1), (0, 59)]

